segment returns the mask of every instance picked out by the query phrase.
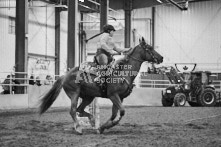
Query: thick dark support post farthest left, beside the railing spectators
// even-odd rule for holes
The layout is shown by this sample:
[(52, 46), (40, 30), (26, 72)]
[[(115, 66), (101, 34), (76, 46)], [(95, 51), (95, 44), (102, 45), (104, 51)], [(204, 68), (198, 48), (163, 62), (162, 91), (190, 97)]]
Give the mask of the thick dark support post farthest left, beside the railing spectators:
[[(16, 0), (15, 78), (26, 78), (28, 57), (28, 0)], [(21, 73), (22, 72), (22, 73)], [(26, 80), (18, 80), (21, 84)], [(16, 87), (15, 93), (25, 93), (27, 87)]]

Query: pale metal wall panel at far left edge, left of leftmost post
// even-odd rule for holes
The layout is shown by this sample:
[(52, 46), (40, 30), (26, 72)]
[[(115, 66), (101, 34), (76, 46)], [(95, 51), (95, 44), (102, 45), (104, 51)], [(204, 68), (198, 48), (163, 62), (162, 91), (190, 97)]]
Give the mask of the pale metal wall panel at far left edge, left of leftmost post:
[[(15, 65), (15, 34), (9, 33), (9, 17), (15, 18), (15, 2), (0, 1), (0, 72), (12, 71)], [(15, 23), (15, 20), (14, 20)], [(8, 73), (0, 73), (6, 77)], [(0, 79), (2, 82), (2, 79)]]

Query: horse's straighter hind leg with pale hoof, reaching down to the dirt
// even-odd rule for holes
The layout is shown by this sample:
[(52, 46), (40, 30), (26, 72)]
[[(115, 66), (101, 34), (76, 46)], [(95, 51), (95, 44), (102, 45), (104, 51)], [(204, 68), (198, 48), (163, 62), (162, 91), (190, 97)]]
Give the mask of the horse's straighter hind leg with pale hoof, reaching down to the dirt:
[(80, 126), (80, 124), (77, 120), (77, 117), (76, 117), (79, 93), (77, 93), (77, 92), (68, 92), (67, 95), (71, 99), (70, 115), (71, 115), (71, 117), (74, 121), (74, 129), (78, 134), (82, 134), (82, 128), (81, 128), (81, 126)]

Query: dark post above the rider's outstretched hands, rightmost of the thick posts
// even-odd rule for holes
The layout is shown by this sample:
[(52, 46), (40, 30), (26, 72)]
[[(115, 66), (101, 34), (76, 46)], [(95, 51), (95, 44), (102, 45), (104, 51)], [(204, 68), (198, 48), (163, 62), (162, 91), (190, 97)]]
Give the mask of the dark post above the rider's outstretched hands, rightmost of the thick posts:
[(130, 36), (131, 36), (131, 11), (132, 11), (132, 0), (124, 0), (124, 15), (125, 15), (125, 41), (124, 46), (130, 47)]

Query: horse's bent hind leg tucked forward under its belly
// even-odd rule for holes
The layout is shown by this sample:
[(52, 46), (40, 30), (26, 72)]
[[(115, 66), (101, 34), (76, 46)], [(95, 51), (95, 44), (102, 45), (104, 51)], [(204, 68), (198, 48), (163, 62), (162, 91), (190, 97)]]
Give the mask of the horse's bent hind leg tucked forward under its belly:
[(88, 112), (85, 112), (84, 109), (93, 101), (93, 99), (94, 97), (83, 98), (81, 104), (77, 108), (77, 112), (79, 112), (79, 117), (88, 117), (92, 127), (95, 126), (94, 116)]

